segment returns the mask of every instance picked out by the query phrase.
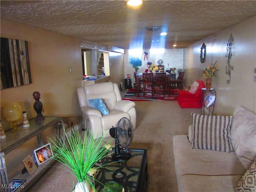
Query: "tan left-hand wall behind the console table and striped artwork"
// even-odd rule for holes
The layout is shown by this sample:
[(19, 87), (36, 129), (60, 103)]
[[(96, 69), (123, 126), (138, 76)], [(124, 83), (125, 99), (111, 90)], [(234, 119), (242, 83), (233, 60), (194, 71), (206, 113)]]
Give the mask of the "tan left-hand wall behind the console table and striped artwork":
[[(82, 80), (79, 39), (2, 18), (1, 37), (28, 41), (32, 75), (30, 85), (1, 90), (1, 111), (5, 102), (14, 100), (27, 111), (28, 118), (35, 117), (32, 94), (39, 91), (44, 116), (81, 115), (76, 94)], [(69, 67), (72, 73), (69, 73)], [(10, 126), (2, 113), (1, 120), (4, 128)]]

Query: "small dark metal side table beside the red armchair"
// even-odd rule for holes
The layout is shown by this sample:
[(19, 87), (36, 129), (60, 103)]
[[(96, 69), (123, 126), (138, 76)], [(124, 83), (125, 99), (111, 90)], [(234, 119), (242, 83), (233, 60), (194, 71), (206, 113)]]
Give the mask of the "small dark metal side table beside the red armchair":
[(208, 115), (213, 115), (214, 105), (216, 102), (216, 91), (214, 88), (202, 88), (201, 91), (203, 92), (201, 114), (207, 114), (205, 111), (208, 108)]

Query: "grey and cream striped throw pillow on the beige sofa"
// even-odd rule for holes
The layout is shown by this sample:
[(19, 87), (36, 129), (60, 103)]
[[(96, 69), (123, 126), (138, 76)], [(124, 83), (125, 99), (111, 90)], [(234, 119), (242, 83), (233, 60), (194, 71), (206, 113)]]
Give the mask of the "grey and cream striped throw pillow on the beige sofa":
[(232, 152), (230, 126), (233, 116), (207, 116), (191, 113), (192, 148)]

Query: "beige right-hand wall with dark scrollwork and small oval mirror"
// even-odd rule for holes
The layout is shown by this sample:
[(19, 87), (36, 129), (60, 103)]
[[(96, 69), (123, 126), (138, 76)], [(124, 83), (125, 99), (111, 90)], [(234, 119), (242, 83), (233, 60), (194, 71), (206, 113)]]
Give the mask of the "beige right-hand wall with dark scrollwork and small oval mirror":
[[(229, 76), (226, 75), (226, 48), (228, 38), (233, 34), (233, 56), (230, 65), (231, 81), (227, 84)], [(212, 80), (217, 100), (215, 114), (233, 114), (237, 105), (256, 113), (256, 16), (227, 28), (213, 36), (200, 40), (184, 49), (184, 86), (188, 88), (194, 80), (202, 78), (204, 67), (217, 61), (218, 77)], [(200, 48), (206, 44), (206, 61), (200, 62)], [(206, 80), (204, 80), (205, 83)]]

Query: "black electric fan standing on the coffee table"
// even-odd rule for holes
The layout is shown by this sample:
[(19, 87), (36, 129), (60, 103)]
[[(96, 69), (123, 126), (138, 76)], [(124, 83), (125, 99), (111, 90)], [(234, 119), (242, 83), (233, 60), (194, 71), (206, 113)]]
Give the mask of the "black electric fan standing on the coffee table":
[[(112, 159), (114, 161), (129, 160), (132, 154), (127, 147), (131, 144), (133, 138), (132, 122), (123, 117), (117, 122), (116, 127), (112, 126), (110, 128), (109, 133), (116, 141), (115, 153), (112, 154)], [(123, 149), (120, 149), (120, 146)]]

